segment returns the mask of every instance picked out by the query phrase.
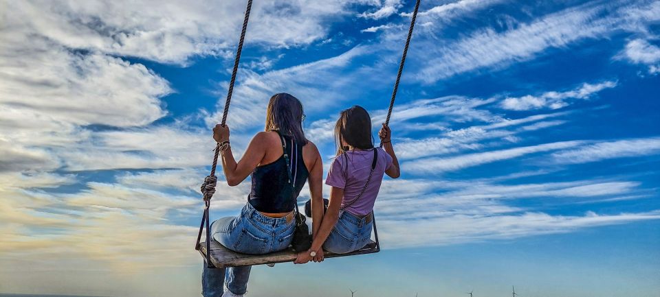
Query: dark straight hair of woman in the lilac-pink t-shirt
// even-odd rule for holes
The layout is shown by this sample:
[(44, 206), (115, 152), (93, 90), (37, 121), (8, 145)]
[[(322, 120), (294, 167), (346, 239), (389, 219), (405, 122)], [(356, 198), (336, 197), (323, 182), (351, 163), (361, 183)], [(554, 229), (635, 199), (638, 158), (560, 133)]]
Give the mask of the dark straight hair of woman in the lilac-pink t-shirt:
[(348, 150), (344, 143), (360, 150), (373, 148), (369, 112), (357, 105), (342, 110), (335, 125), (335, 141), (337, 156)]

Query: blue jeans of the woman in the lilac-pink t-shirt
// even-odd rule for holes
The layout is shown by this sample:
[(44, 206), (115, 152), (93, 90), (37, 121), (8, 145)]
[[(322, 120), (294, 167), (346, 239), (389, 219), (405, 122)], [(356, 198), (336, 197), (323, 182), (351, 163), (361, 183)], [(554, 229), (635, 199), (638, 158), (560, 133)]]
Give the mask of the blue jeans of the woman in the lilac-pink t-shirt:
[(348, 211), (342, 212), (335, 228), (323, 243), (323, 249), (335, 254), (346, 254), (366, 246), (371, 240), (372, 218), (372, 215), (358, 217)]

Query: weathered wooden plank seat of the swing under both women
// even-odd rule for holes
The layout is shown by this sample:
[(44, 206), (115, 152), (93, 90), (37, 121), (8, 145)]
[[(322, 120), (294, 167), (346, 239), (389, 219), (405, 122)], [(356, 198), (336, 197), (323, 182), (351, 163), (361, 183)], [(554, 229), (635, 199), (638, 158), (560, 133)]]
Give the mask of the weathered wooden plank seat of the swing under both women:
[[(293, 262), (298, 257), (298, 253), (294, 252), (291, 247), (287, 248), (286, 250), (272, 252), (270, 254), (241, 254), (240, 252), (234, 252), (233, 250), (225, 248), (223, 245), (214, 240), (211, 241), (210, 250), (211, 263), (216, 268)], [(334, 258), (353, 256), (358, 254), (372, 254), (379, 251), (380, 248), (377, 246), (377, 244), (374, 241), (370, 241), (366, 244), (366, 246), (360, 248), (360, 250), (355, 250), (347, 254), (333, 254), (331, 252), (325, 252), (324, 256), (325, 258)], [(199, 252), (201, 253), (202, 257), (206, 259), (206, 242), (199, 244)]]

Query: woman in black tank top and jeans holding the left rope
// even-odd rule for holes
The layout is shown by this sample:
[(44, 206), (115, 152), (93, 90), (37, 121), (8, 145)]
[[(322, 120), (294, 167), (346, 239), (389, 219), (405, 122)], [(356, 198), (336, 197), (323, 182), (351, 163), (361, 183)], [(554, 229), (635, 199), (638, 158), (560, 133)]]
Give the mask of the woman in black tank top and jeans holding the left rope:
[[(229, 141), (228, 126), (217, 125), (213, 139), (220, 144), (222, 169), (228, 185), (239, 185), (252, 176), (252, 190), (241, 214), (223, 217), (210, 226), (212, 238), (226, 248), (245, 254), (267, 254), (284, 250), (294, 233), (294, 206), (309, 180), (314, 234), (320, 227), (323, 213), (323, 164), (314, 143), (305, 139), (302, 121), (303, 104), (287, 93), (270, 98), (266, 110), (265, 132), (257, 133), (236, 163)], [(286, 151), (286, 152), (285, 152)], [(283, 154), (289, 154), (294, 189), (289, 185), (287, 164)], [(294, 191), (294, 193), (292, 193)], [(243, 296), (247, 291), (250, 266), (207, 268), (204, 264), (202, 294), (204, 297)], [(223, 282), (226, 278), (226, 291)]]

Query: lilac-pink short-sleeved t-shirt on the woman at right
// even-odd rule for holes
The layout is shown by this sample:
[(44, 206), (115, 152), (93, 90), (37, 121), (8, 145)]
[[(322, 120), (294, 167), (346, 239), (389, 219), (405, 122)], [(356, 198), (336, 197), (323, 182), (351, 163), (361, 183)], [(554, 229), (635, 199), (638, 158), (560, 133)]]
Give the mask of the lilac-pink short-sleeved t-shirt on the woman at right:
[(351, 206), (344, 209), (354, 215), (368, 215), (373, 210), (373, 204), (376, 201), (380, 184), (383, 181), (385, 170), (392, 166), (392, 157), (380, 147), (378, 150), (378, 161), (373, 174), (369, 187), (366, 187), (360, 200), (353, 202), (360, 194), (362, 188), (369, 178), (369, 171), (371, 171), (371, 163), (373, 161), (373, 151), (371, 150), (358, 150), (346, 152), (332, 162), (328, 177), (325, 179), (325, 184), (344, 189), (344, 200), (342, 201), (342, 208), (344, 205), (351, 204)]

